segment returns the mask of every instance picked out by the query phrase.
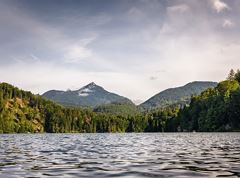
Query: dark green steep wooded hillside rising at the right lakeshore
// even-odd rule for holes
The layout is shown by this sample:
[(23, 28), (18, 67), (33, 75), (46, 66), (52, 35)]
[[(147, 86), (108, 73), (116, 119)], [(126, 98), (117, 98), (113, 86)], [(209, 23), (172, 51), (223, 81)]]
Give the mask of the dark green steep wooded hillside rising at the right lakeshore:
[(169, 131), (240, 131), (240, 71), (191, 99), (168, 121)]

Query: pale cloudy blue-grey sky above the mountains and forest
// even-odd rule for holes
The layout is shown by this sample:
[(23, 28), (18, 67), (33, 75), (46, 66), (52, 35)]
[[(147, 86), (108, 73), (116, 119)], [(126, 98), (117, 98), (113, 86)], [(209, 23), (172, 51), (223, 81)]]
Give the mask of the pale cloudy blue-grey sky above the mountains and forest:
[(140, 103), (240, 68), (239, 0), (0, 0), (0, 82)]

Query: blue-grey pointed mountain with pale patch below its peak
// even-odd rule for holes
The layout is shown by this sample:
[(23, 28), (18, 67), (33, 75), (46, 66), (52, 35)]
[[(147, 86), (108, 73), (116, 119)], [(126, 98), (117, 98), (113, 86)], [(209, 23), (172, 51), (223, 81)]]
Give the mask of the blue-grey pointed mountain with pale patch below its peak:
[(65, 106), (96, 107), (110, 103), (132, 103), (128, 98), (110, 93), (93, 82), (79, 90), (50, 90), (42, 96)]

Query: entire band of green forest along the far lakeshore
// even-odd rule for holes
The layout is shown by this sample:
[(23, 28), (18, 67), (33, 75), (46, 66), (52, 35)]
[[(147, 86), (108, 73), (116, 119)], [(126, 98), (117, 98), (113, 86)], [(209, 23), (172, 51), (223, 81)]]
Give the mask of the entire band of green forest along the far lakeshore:
[(113, 103), (98, 108), (63, 107), (10, 84), (0, 84), (0, 133), (240, 131), (240, 71), (189, 105), (141, 112)]

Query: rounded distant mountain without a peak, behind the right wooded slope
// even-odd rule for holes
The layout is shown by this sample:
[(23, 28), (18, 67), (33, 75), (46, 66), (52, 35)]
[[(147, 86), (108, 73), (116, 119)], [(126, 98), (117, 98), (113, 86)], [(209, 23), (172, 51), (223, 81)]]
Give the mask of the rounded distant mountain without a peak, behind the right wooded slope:
[(185, 105), (190, 102), (192, 95), (199, 95), (204, 90), (216, 86), (216, 82), (195, 81), (181, 87), (169, 88), (140, 104), (140, 107), (150, 110), (163, 108), (172, 104)]

